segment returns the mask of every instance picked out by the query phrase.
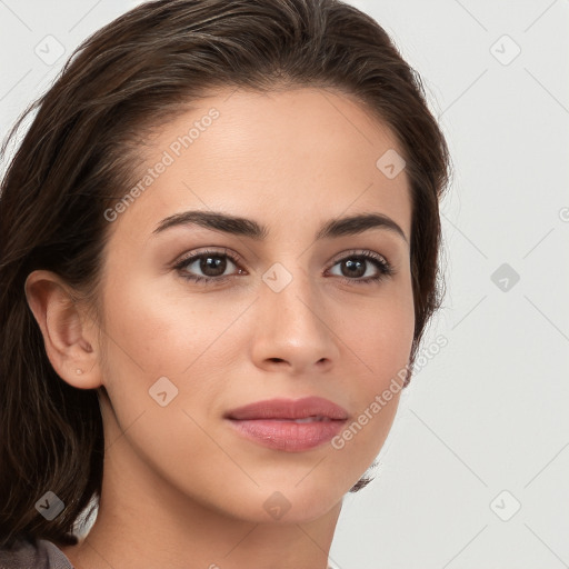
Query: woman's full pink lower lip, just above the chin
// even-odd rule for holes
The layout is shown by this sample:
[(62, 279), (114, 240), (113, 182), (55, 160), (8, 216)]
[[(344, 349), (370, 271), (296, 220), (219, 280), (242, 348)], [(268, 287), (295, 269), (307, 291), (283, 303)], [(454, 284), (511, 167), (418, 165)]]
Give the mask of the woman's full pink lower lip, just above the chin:
[(230, 422), (240, 435), (263, 447), (299, 452), (331, 440), (342, 430), (346, 420), (295, 422), (271, 419), (230, 419)]

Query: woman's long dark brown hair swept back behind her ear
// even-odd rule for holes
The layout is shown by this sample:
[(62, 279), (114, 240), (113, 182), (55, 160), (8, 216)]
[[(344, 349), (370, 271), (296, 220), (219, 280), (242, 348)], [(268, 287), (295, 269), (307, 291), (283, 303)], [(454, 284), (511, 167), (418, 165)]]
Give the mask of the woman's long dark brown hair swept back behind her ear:
[[(97, 390), (76, 389), (53, 370), (26, 278), (51, 270), (96, 298), (110, 227), (103, 211), (134, 182), (144, 129), (228, 86), (337, 89), (397, 136), (412, 199), (412, 371), (441, 301), (438, 208), (449, 172), (419, 76), (371, 17), (337, 0), (144, 3), (87, 39), (2, 146), (4, 157), (37, 110), (0, 194), (0, 547), (20, 538), (74, 543), (73, 523), (102, 479)], [(66, 505), (51, 521), (34, 508), (48, 490)]]

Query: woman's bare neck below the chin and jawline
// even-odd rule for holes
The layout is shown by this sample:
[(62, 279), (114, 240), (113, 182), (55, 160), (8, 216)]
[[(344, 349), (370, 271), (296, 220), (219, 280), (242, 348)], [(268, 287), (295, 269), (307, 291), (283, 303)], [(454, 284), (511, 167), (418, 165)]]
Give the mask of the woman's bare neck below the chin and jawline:
[(101, 498), (87, 538), (63, 552), (77, 569), (326, 569), (340, 507), (287, 525), (246, 522), (197, 506), (179, 525), (152, 499), (108, 507)]

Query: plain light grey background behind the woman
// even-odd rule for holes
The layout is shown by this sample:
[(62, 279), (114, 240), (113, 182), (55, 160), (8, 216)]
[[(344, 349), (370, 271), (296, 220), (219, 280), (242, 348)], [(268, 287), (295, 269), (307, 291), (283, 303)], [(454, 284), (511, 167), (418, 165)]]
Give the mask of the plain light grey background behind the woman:
[[(2, 137), (76, 46), (137, 3), (0, 0)], [(376, 481), (347, 497), (331, 561), (569, 567), (569, 1), (350, 3), (421, 73), (455, 178), (448, 292), (425, 339), (448, 346), (405, 391)], [(52, 64), (34, 52), (48, 34), (66, 50)]]

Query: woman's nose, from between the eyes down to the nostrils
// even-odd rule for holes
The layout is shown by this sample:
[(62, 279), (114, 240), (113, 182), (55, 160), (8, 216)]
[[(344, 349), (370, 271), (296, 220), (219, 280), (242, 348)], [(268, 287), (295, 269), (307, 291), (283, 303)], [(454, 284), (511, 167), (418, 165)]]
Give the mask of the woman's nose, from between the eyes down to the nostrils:
[(261, 282), (256, 302), (252, 358), (266, 371), (321, 373), (338, 359), (338, 335), (326, 298), (301, 271), (280, 291)]

